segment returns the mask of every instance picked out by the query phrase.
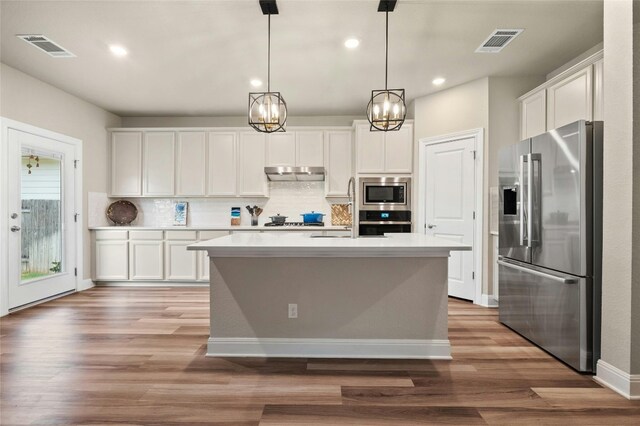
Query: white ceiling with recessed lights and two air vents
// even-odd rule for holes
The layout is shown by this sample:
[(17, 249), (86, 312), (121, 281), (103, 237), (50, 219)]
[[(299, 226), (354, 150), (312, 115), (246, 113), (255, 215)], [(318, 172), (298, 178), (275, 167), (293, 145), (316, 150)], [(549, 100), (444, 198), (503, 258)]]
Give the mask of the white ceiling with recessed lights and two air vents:
[[(364, 114), (371, 90), (384, 87), (377, 4), (278, 0), (271, 89), (289, 115)], [(546, 74), (602, 41), (602, 9), (602, 0), (399, 0), (389, 17), (389, 86), (410, 101), (484, 76)], [(3, 0), (0, 12), (2, 62), (118, 115), (243, 115), (256, 90), (250, 79), (266, 83), (258, 0)], [(474, 53), (496, 28), (525, 31), (502, 53)], [(51, 58), (15, 37), (25, 33), (77, 57)], [(351, 36), (361, 40), (356, 50), (343, 46)], [(111, 43), (129, 55), (114, 57)], [(432, 85), (436, 76), (444, 86)]]

